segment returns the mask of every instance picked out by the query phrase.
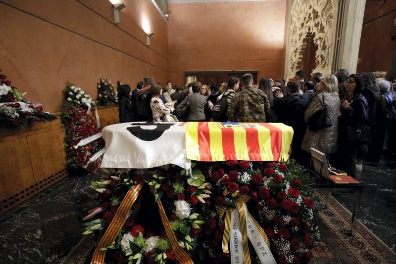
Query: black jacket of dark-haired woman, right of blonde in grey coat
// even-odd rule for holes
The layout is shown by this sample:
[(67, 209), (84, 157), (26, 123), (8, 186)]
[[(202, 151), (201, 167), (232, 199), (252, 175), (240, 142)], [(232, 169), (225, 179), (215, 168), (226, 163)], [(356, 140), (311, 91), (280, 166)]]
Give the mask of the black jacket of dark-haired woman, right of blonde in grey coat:
[[(345, 96), (342, 100), (347, 99)], [(352, 97), (352, 103), (348, 108), (341, 106), (340, 128), (347, 131), (347, 127), (358, 128), (368, 125), (368, 104), (366, 98), (361, 94)]]

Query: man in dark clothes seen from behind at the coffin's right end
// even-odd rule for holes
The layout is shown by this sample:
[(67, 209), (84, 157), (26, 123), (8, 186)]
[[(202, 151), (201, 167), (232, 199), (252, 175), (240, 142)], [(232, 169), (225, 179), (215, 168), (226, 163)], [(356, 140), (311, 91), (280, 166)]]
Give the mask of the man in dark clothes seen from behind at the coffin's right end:
[(286, 87), (287, 95), (277, 91), (279, 100), (274, 100), (274, 111), (277, 115), (277, 122), (291, 126), (294, 130), (292, 142), (292, 158), (299, 160), (301, 156), (301, 143), (306, 131), (304, 112), (309, 106), (307, 100), (298, 95), (299, 83), (290, 80)]

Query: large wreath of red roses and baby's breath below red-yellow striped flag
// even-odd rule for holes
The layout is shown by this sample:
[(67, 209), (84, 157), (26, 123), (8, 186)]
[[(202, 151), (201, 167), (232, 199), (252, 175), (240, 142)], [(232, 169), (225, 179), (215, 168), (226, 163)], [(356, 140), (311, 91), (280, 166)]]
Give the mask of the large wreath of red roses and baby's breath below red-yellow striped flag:
[[(278, 263), (304, 263), (312, 259), (312, 248), (320, 239), (317, 226), (312, 223), (314, 193), (313, 180), (295, 162), (263, 163), (226, 161), (211, 166), (207, 172), (217, 195), (205, 215), (202, 247), (218, 262), (229, 262), (221, 240), (224, 220), (219, 221), (219, 209), (225, 203), (223, 190), (250, 196), (247, 204), (254, 219), (259, 220), (271, 242), (271, 252)], [(250, 250), (252, 254), (254, 250)], [(254, 256), (254, 255), (253, 255)]]

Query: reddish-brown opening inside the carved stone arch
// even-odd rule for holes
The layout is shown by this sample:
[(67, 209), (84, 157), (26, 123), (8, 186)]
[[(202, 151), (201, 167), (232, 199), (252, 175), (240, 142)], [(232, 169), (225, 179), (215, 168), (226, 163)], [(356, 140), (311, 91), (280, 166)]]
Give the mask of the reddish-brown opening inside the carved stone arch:
[(315, 33), (308, 32), (301, 45), (301, 65), (300, 69), (305, 71), (305, 80), (310, 81), (312, 71), (318, 66), (316, 51), (318, 45), (314, 43)]

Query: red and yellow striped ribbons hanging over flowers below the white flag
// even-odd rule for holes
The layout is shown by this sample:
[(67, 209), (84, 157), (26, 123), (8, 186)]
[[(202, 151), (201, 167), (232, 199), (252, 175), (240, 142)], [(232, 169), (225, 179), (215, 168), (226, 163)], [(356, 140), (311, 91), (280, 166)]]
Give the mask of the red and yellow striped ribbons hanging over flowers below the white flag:
[[(100, 249), (102, 247), (110, 246), (117, 237), (122, 226), (124, 225), (124, 222), (126, 220), (129, 211), (132, 208), (132, 205), (134, 204), (134, 202), (139, 196), (140, 191), (142, 190), (143, 184), (144, 184), (143, 181), (139, 182), (138, 184), (133, 186), (125, 195), (120, 206), (118, 207), (117, 212), (115, 213), (113, 220), (110, 222), (102, 239), (100, 239), (98, 247), (95, 249), (94, 255), (91, 260), (91, 264), (104, 264), (104, 257), (106, 251)], [(154, 194), (156, 193), (155, 189), (153, 192)], [(190, 256), (177, 243), (177, 239), (170, 226), (169, 220), (166, 217), (165, 210), (162, 206), (161, 200), (158, 199), (157, 203), (158, 203), (158, 210), (162, 220), (162, 224), (164, 226), (166, 235), (168, 236), (168, 239), (170, 241), (170, 245), (173, 249), (173, 252), (175, 253), (176, 259), (181, 264), (194, 264)]]

